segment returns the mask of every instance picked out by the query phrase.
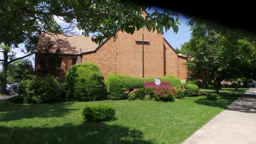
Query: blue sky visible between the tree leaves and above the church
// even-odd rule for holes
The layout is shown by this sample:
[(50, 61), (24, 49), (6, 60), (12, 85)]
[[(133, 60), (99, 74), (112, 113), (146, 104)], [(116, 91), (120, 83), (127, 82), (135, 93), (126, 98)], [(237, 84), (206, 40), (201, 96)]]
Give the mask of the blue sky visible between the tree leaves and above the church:
[[(161, 11), (161, 8), (152, 7), (150, 10), (147, 10), (147, 12), (152, 13), (155, 11), (154, 9)], [(182, 13), (178, 13), (178, 12), (171, 11), (171, 10), (168, 10), (168, 11), (179, 14), (179, 22), (181, 23), (181, 26), (179, 26), (179, 31), (176, 35), (173, 33), (173, 30), (171, 28), (169, 31), (164, 33), (163, 36), (174, 49), (176, 47), (178, 47), (180, 49), (181, 44), (190, 40), (190, 33), (191, 33), (190, 27), (188, 27), (186, 25), (187, 20), (186, 20), (186, 18), (184, 18)], [(60, 23), (62, 23), (62, 22), (60, 21)], [(164, 32), (165, 32), (165, 30), (164, 30)], [(18, 46), (19, 46), (19, 48), (13, 49), (13, 51), (17, 52), (16, 58), (22, 57), (25, 55), (24, 53), (21, 52), (21, 48), (24, 49), (24, 44), (19, 44)], [(34, 55), (32, 55), (28, 58), (33, 62), (33, 57), (34, 57)], [(3, 59), (2, 55), (0, 55), (0, 59)], [(33, 62), (33, 64), (34, 64), (34, 62)]]

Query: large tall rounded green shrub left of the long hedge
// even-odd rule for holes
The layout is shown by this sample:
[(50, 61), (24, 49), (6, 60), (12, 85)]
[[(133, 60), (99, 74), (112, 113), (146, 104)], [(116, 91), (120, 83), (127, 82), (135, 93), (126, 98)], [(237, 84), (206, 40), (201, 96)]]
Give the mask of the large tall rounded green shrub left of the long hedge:
[(96, 101), (102, 97), (104, 77), (96, 64), (81, 63), (68, 69), (64, 87), (67, 100)]

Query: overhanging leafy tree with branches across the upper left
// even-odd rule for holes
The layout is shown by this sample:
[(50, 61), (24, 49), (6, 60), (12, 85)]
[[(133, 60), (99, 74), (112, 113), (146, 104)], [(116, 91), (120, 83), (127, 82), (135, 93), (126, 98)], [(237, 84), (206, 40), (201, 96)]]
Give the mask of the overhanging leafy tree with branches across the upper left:
[[(117, 31), (133, 34), (146, 28), (158, 34), (171, 27), (178, 32), (178, 15), (157, 10), (145, 18), (141, 12), (149, 5), (122, 0), (2, 0), (0, 5), (0, 49), (3, 53), (1, 93), (5, 93), (8, 65), (34, 53), (41, 33), (68, 34), (83, 30), (84, 36), (95, 34), (93, 41), (100, 44), (104, 39), (115, 37)], [(67, 26), (58, 24), (61, 19)], [(58, 36), (56, 36), (58, 39)], [(15, 58), (12, 49), (25, 43), (26, 56)], [(9, 60), (9, 61), (8, 61)]]

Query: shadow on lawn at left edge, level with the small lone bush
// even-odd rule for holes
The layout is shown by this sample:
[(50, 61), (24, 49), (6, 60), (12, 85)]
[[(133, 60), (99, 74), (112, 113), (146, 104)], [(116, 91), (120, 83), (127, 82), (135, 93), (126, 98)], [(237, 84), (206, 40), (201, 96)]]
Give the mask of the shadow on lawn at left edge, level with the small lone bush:
[(72, 112), (68, 108), (72, 103), (58, 102), (52, 104), (13, 104), (7, 100), (0, 101), (0, 122), (34, 117), (63, 117)]

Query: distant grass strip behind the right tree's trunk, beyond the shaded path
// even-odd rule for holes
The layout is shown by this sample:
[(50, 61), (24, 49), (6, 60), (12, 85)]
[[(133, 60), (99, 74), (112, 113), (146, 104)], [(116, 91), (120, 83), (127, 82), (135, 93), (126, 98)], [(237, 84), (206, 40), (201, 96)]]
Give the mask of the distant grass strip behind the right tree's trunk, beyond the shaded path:
[[(247, 90), (249, 88), (238, 88), (238, 90), (235, 90), (235, 88), (222, 88), (220, 94), (244, 94)], [(214, 90), (199, 89), (199, 93), (214, 93)]]

